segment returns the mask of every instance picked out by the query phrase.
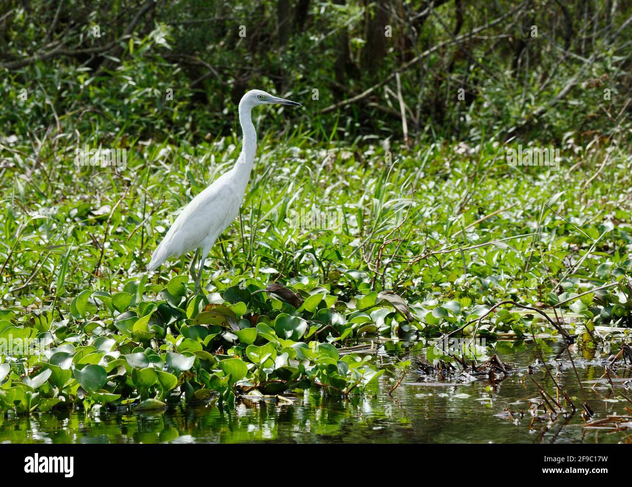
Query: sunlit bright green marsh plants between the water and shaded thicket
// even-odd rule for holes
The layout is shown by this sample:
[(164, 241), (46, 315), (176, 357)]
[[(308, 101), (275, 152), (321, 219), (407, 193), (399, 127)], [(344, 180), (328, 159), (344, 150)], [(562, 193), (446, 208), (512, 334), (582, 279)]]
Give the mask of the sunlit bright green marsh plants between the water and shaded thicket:
[[(300, 144), (262, 144), (241, 220), (212, 250), (205, 298), (191, 293), (178, 262), (152, 283), (140, 271), (171, 208), (190, 197), (176, 182), (180, 174), (204, 180), (204, 165), (190, 163), (186, 146), (167, 146), (163, 160), (128, 161), (123, 177), (90, 177), (91, 168), (33, 173), (40, 191), (25, 191), (16, 179), (3, 215), (13, 238), (0, 333), (37, 337), (51, 349), (2, 366), (9, 377), (4, 408), (166, 399), (178, 385), (189, 400), (216, 390), (233, 401), (231, 385), (241, 379), (241, 391), (318, 385), (346, 394), (367, 385), (376, 369), (357, 356), (338, 356), (336, 346), (463, 326), (493, 341), (498, 332), (528, 337), (532, 323), (546, 324), (513, 307), (476, 321), (502, 300), (543, 307), (569, 300), (558, 309), (567, 318), (627, 326), (632, 242), (623, 154), (611, 156), (599, 184), (583, 189), (593, 165), (561, 169), (564, 179), (543, 168), (507, 173), (506, 162), (487, 153), (491, 143), (475, 148), (471, 159), (432, 146), (392, 166), (371, 153), (363, 163), (353, 148), (319, 160), (317, 150), (291, 149)], [(217, 170), (229, 164), (230, 150), (214, 153), (227, 159)], [(73, 195), (55, 190), (73, 185)], [(96, 201), (88, 196), (109, 185)], [(543, 198), (545, 192), (554, 197)], [(114, 201), (112, 194), (125, 198)], [(468, 208), (458, 213), (464, 198)], [(312, 206), (342, 208), (341, 232), (296, 226), (293, 208)], [(21, 215), (20, 208), (34, 211)], [(271, 281), (304, 302), (255, 293)], [(391, 289), (405, 302), (380, 294)]]

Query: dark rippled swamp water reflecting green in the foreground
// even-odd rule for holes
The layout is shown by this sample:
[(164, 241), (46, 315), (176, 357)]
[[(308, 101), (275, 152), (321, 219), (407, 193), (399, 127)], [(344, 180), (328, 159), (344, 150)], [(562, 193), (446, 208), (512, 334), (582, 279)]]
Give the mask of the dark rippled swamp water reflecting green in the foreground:
[[(538, 341), (545, 361), (553, 366), (556, 380), (579, 407), (581, 390), (562, 346)], [(327, 397), (319, 390), (287, 394), (290, 402), (277, 399), (245, 399), (234, 411), (216, 404), (176, 404), (152, 413), (102, 411), (86, 416), (80, 409), (65, 409), (32, 416), (0, 417), (0, 442), (4, 443), (616, 443), (629, 442), (632, 429), (585, 428), (581, 411), (551, 421), (540, 409), (530, 413), (530, 399), (538, 398), (537, 386), (525, 377), (526, 367), (535, 365), (533, 378), (550, 394), (550, 378), (537, 367), (538, 354), (532, 343), (504, 343), (499, 358), (515, 372), (490, 384), (475, 380), (464, 384), (451, 378), (423, 375), (416, 360), (425, 360), (422, 343), (405, 341), (376, 345), (372, 352), (380, 367), (389, 369), (379, 384), (349, 400)], [(505, 353), (502, 353), (504, 351)], [(494, 351), (488, 349), (487, 354)], [(484, 360), (485, 357), (483, 357)], [(590, 360), (577, 353), (573, 358), (582, 381), (598, 380), (604, 374), (607, 355)], [(398, 378), (387, 365), (412, 360), (401, 385), (389, 396), (389, 378)], [(558, 365), (561, 370), (558, 371)], [(614, 392), (601, 380), (585, 383), (590, 407), (597, 420), (609, 414), (632, 416), (622, 394), (632, 396), (632, 369), (619, 367)], [(423, 384), (423, 385), (422, 385)], [(453, 385), (451, 385), (453, 384)], [(617, 397), (618, 396), (618, 397)], [(506, 413), (514, 411), (512, 417)], [(523, 416), (520, 417), (520, 413)], [(632, 420), (628, 420), (629, 421)]]

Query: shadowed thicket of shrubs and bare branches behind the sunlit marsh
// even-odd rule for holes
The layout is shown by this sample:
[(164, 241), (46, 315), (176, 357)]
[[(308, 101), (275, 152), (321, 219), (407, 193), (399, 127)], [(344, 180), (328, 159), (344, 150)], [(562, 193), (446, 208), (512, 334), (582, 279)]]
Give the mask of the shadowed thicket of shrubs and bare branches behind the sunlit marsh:
[(197, 142), (235, 131), (248, 89), (318, 90), (289, 116), (320, 139), (587, 143), (632, 93), (631, 14), (629, 0), (5, 0), (0, 122)]

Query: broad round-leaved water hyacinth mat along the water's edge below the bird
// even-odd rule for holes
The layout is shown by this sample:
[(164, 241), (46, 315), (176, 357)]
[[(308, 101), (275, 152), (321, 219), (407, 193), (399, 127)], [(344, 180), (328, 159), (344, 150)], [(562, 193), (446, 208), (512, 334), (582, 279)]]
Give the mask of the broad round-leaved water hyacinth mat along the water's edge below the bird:
[[(368, 291), (362, 279), (357, 285), (365, 291), (351, 298), (311, 279), (289, 288), (237, 276), (228, 285), (214, 283), (217, 291), (209, 295), (191, 293), (192, 284), (188, 274), (166, 286), (143, 275), (114, 293), (84, 290), (63, 320), (50, 311), (20, 320), (4, 310), (0, 339), (19, 335), (47, 346), (3, 357), (0, 406), (23, 414), (81, 404), (85, 411), (142, 410), (180, 399), (233, 406), (239, 394), (277, 396), (312, 387), (345, 397), (384, 373), (370, 355), (353, 353), (350, 342), (454, 331), (494, 341), (499, 332), (525, 336), (534, 323), (548, 326), (545, 319), (504, 308), (482, 324), (492, 307), (473, 305), (467, 296), (409, 307), (392, 291)], [(625, 291), (622, 286), (619, 292)], [(617, 314), (615, 307), (629, 315), (621, 304), (609, 304), (607, 295), (602, 301), (601, 307), (588, 308), (581, 300), (571, 306), (596, 322)], [(447, 352), (428, 358), (451, 360)], [(404, 373), (409, 366), (397, 365)]]

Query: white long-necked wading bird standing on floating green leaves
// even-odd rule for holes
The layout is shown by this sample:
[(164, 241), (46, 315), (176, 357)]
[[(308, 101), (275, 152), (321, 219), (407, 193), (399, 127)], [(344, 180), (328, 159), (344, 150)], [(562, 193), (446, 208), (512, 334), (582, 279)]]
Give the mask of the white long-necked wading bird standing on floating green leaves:
[[(250, 170), (252, 170), (252, 163), (257, 151), (257, 133), (252, 124), (252, 109), (257, 105), (272, 105), (274, 103), (295, 107), (302, 106), (300, 103), (273, 97), (261, 90), (250, 90), (243, 95), (239, 103), (239, 120), (243, 132), (239, 158), (231, 170), (222, 174), (185, 206), (160, 245), (154, 250), (152, 260), (147, 266), (148, 271), (153, 271), (171, 257), (180, 257), (195, 250), (190, 273), (195, 279), (196, 293), (201, 291), (200, 281), (202, 280), (204, 261), (217, 237), (228, 228), (239, 214), (246, 185), (250, 179)], [(198, 257), (200, 258), (200, 269), (196, 276), (195, 261)]]

